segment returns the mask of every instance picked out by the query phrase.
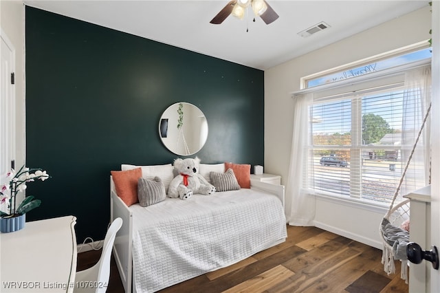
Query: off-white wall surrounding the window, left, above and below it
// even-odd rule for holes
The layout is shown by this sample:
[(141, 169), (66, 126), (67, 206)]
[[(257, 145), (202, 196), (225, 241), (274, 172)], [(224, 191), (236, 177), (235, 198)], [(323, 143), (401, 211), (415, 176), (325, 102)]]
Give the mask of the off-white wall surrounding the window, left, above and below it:
[[(293, 101), (300, 78), (430, 38), (431, 14), (426, 8), (393, 19), (265, 71), (265, 173), (287, 184), (292, 147)], [(325, 33), (325, 32), (320, 32)], [(310, 36), (319, 38), (319, 34)], [(291, 201), (286, 199), (286, 212)], [(385, 209), (368, 210), (317, 198), (316, 226), (380, 247), (378, 227)]]

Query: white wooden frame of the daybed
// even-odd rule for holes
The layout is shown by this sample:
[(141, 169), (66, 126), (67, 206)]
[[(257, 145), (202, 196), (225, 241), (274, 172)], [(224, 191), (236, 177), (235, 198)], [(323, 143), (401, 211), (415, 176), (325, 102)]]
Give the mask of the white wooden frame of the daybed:
[[(266, 193), (271, 193), (276, 195), (283, 203), (284, 208), (284, 186), (268, 184), (266, 182), (256, 182), (251, 181), (251, 189), (257, 191), (265, 191)], [(113, 244), (113, 255), (115, 257), (116, 266), (120, 274), (122, 284), (124, 285), (124, 290), (126, 293), (132, 292), (133, 284), (133, 214), (122, 199), (118, 197), (115, 191), (115, 185), (113, 179), (110, 176), (110, 217), (111, 221), (113, 219), (120, 217), (122, 219), (122, 227), (120, 228), (118, 234), (115, 237), (115, 242)], [(267, 248), (276, 246), (279, 243), (283, 243), (285, 239), (280, 239)], [(265, 249), (267, 249), (265, 248)]]

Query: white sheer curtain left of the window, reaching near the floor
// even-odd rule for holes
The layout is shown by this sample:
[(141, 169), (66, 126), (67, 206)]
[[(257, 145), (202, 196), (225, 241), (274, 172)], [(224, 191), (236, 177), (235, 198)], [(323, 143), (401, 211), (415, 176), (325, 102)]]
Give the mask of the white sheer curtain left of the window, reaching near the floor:
[(286, 187), (287, 221), (292, 226), (314, 226), (315, 197), (307, 191), (308, 148), (311, 144), (309, 106), (313, 94), (294, 96), (294, 131)]

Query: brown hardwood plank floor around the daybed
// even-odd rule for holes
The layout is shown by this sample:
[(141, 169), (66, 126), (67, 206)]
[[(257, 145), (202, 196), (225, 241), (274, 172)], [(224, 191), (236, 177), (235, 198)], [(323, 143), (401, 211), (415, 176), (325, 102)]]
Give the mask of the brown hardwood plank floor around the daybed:
[[(395, 274), (384, 272), (382, 250), (316, 227), (287, 226), (287, 234), (285, 243), (159, 292), (408, 292), (399, 261)], [(78, 254), (78, 270), (99, 257)], [(113, 259), (107, 292), (124, 292)]]

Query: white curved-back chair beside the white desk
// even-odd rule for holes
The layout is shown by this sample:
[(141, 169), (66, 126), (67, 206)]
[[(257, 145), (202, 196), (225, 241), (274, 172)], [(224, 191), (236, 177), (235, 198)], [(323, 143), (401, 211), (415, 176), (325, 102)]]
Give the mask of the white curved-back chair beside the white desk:
[(94, 266), (87, 270), (76, 272), (74, 292), (104, 293), (109, 285), (111, 248), (115, 241), (116, 232), (122, 226), (122, 219), (116, 218), (105, 235), (101, 257)]

